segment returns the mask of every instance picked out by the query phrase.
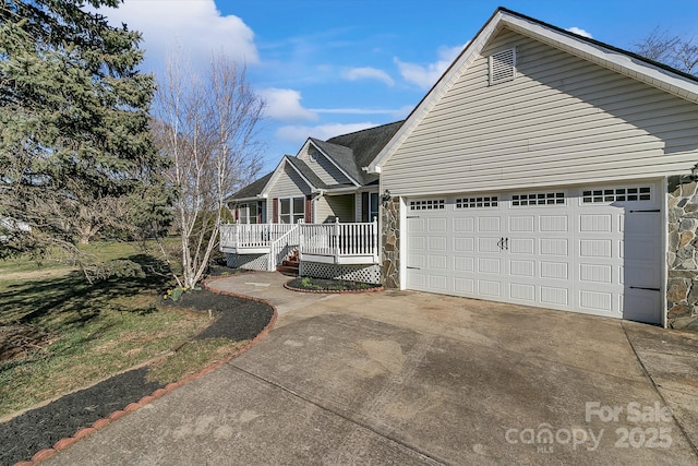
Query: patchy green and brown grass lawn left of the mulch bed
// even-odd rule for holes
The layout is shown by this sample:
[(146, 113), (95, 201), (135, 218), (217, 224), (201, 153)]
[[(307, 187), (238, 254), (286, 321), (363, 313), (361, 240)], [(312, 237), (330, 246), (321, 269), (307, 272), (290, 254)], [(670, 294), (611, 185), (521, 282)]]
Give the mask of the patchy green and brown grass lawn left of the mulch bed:
[(159, 306), (172, 283), (155, 254), (124, 242), (94, 243), (85, 252), (133, 261), (146, 276), (89, 284), (51, 258), (0, 261), (0, 357), (15, 353), (0, 360), (0, 417), (161, 356), (212, 322)]

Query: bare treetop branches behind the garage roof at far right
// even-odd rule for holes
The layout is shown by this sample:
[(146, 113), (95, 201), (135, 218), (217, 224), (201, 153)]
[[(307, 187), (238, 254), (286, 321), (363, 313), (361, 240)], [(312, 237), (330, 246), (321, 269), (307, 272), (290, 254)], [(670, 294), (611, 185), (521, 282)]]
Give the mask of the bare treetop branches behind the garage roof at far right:
[(698, 44), (695, 37), (684, 38), (655, 28), (639, 43), (634, 51), (650, 60), (659, 61), (679, 71), (696, 74), (698, 69)]

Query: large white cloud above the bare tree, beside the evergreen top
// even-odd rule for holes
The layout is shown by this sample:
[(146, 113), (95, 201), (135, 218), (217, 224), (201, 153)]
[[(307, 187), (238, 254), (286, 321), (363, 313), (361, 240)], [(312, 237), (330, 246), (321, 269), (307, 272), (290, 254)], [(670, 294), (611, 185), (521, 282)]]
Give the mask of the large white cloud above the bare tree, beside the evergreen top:
[(174, 47), (178, 53), (188, 53), (193, 65), (207, 62), (213, 52), (248, 64), (260, 61), (252, 29), (238, 16), (221, 15), (214, 0), (125, 0), (118, 9), (99, 12), (112, 24), (125, 23), (143, 33), (141, 47), (155, 69), (164, 65)]

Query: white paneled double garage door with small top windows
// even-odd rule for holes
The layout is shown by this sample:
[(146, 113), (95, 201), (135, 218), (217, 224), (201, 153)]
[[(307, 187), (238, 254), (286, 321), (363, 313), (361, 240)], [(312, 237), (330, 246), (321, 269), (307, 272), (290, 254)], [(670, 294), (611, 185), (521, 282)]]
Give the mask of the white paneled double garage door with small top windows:
[(653, 183), (407, 202), (407, 288), (660, 323)]

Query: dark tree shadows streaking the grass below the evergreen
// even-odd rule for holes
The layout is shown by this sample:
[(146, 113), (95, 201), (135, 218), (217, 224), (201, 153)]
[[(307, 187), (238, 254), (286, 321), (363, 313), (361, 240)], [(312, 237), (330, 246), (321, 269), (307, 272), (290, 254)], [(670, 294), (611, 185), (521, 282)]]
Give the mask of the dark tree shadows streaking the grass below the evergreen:
[(123, 260), (137, 264), (144, 276), (116, 276), (89, 284), (82, 274), (71, 273), (8, 286), (0, 303), (0, 325), (53, 326), (60, 322), (60, 326), (70, 327), (82, 325), (106, 310), (153, 312), (152, 302), (127, 307), (115, 298), (159, 294), (171, 284), (169, 265), (147, 254), (133, 254)]

